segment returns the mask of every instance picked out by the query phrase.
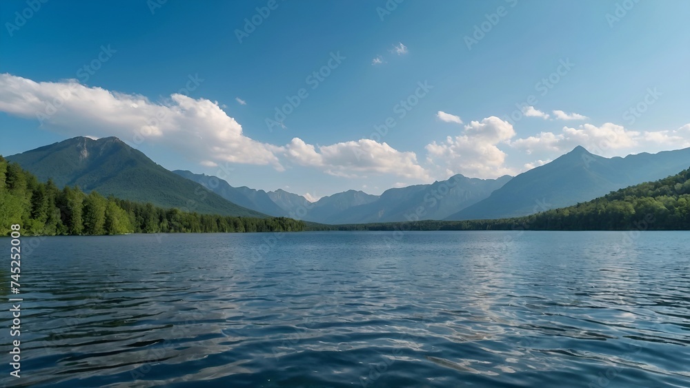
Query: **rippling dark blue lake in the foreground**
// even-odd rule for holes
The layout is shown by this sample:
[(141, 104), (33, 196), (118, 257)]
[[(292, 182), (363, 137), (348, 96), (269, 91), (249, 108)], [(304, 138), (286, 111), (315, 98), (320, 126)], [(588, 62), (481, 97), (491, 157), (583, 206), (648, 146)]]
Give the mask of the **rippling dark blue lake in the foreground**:
[(19, 379), (7, 301), (1, 316), (8, 386), (690, 387), (688, 232), (22, 245)]

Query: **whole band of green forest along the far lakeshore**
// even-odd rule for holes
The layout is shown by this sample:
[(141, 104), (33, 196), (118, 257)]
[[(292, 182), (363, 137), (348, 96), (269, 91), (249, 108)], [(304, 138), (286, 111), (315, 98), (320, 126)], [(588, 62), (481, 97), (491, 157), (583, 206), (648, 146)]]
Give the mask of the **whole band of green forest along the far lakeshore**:
[(23, 234), (299, 232), (303, 230), (689, 230), (690, 170), (611, 192), (586, 203), (530, 216), (473, 221), (322, 225), (291, 218), (219, 216), (105, 198), (40, 182), (0, 156), (0, 236)]

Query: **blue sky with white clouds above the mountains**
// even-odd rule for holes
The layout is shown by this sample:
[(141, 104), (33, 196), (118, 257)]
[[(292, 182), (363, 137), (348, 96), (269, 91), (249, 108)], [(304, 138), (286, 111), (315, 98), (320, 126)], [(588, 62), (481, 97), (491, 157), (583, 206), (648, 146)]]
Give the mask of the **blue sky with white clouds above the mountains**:
[(317, 198), (690, 146), (687, 1), (397, 1), (3, 1), (0, 154)]

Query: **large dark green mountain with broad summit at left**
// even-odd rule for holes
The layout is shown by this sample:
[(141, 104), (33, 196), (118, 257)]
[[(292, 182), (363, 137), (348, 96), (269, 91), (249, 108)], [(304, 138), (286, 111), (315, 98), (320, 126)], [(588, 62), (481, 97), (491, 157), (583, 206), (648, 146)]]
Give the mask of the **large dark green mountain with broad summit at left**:
[(105, 196), (203, 214), (266, 216), (166, 170), (115, 137), (75, 137), (7, 159), (40, 181), (52, 178), (58, 187), (78, 185), (84, 192), (95, 190)]

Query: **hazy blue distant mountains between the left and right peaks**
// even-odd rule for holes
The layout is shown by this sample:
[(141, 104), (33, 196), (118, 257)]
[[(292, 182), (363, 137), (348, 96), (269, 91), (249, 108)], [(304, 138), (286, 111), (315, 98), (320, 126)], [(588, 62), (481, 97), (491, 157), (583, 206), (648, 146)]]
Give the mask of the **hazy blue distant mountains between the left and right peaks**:
[(232, 187), (217, 176), (176, 170), (175, 174), (195, 181), (223, 198), (270, 216), (286, 216), (316, 223), (373, 223), (443, 219), (486, 198), (511, 179), (466, 178), (457, 174), (431, 185), (413, 185), (386, 190), (380, 196), (348, 190), (324, 196), (311, 203), (304, 196), (279, 189), (264, 192), (249, 187)]

